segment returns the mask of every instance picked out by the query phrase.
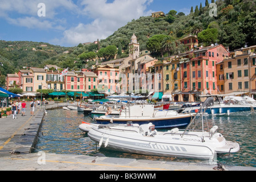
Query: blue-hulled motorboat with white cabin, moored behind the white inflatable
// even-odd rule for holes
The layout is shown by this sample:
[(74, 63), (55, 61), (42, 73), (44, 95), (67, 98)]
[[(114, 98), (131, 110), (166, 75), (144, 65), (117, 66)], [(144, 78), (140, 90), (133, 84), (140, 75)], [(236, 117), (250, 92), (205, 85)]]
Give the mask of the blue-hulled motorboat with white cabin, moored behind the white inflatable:
[(97, 124), (107, 123), (123, 124), (128, 121), (139, 125), (153, 123), (156, 128), (185, 128), (189, 125), (193, 114), (177, 113), (174, 110), (154, 110), (154, 105), (127, 105), (119, 111), (119, 115), (102, 115), (94, 117)]

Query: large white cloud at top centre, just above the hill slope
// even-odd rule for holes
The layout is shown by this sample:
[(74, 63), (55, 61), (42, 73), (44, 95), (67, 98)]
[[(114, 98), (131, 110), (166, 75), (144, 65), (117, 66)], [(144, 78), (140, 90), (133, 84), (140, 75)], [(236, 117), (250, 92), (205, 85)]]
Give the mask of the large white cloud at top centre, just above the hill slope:
[(106, 0), (83, 0), (82, 14), (93, 18), (93, 22), (79, 23), (77, 27), (63, 32), (62, 39), (54, 39), (53, 42), (77, 46), (79, 43), (105, 39), (130, 20), (150, 15), (151, 11), (146, 12), (146, 7), (151, 2), (153, 0), (115, 0), (112, 3)]

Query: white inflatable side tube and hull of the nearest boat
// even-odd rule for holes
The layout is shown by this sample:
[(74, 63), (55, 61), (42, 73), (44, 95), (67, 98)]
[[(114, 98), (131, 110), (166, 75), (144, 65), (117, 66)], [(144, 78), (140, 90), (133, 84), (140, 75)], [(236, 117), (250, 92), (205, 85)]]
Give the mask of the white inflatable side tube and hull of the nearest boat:
[(141, 134), (121, 134), (95, 128), (89, 131), (88, 136), (97, 143), (103, 139), (102, 147), (135, 154), (197, 159), (213, 159), (215, 155), (214, 148), (203, 142), (175, 142), (166, 136), (145, 137)]

